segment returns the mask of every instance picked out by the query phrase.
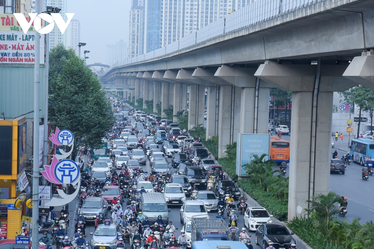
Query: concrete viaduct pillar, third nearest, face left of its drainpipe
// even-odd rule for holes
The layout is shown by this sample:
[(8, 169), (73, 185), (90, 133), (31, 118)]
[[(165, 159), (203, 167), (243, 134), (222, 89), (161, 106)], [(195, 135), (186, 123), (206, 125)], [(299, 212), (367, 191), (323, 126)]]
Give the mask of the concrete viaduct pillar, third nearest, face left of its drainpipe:
[(218, 108), (218, 158), (226, 156), (226, 153), (224, 152), (226, 150), (226, 144), (230, 143), (233, 97), (234, 86), (220, 85)]

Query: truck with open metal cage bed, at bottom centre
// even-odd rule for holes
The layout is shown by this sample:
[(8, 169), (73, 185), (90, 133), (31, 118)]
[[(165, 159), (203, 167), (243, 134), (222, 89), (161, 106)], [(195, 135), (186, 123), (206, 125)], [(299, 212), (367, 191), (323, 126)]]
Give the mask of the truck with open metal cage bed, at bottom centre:
[(191, 242), (200, 240), (229, 240), (229, 228), (226, 222), (217, 218), (191, 219)]

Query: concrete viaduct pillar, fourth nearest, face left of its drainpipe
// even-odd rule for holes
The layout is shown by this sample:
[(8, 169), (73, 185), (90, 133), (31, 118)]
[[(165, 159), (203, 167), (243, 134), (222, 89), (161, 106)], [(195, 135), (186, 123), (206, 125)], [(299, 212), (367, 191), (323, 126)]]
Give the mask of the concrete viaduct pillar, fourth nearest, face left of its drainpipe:
[[(218, 87), (208, 87), (208, 101), (206, 104), (206, 138), (217, 135), (218, 125)], [(217, 122), (216, 122), (217, 121)]]

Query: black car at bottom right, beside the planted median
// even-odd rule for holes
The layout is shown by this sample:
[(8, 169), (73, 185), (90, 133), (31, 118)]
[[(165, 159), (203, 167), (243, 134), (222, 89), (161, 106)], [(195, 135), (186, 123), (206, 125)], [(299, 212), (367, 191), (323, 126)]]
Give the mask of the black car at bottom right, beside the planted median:
[(283, 224), (266, 223), (260, 225), (256, 230), (256, 245), (267, 248), (270, 240), (273, 242), (273, 248), (291, 248), (291, 244), (295, 243), (292, 234)]

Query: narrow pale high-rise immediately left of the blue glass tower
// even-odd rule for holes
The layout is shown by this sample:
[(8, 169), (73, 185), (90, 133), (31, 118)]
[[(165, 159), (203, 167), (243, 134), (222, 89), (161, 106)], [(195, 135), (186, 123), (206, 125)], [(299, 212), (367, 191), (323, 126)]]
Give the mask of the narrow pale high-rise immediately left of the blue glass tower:
[(129, 22), (128, 58), (144, 53), (144, 1), (132, 0)]

